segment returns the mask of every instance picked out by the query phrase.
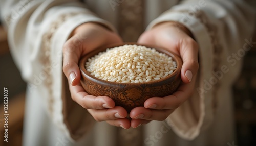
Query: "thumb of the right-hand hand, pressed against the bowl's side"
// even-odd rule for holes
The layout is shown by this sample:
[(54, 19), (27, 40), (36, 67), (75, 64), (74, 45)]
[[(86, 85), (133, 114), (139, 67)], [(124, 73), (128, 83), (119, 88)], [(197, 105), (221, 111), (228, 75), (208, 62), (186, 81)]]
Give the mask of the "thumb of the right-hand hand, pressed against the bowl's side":
[(183, 61), (181, 79), (184, 83), (190, 83), (196, 78), (199, 68), (198, 45), (193, 39), (181, 40), (179, 44), (180, 55)]

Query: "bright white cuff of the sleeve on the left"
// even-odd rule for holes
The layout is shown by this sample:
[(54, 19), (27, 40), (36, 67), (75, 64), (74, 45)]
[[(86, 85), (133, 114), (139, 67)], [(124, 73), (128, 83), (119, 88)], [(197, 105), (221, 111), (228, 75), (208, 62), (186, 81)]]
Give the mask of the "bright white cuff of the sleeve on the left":
[[(68, 18), (51, 38), (51, 54), (52, 63), (56, 64), (52, 67), (53, 76), (53, 122), (66, 133), (71, 140), (78, 140), (84, 136), (95, 123), (95, 120), (83, 109), (75, 103), (70, 96), (66, 77), (62, 72), (62, 47), (67, 41), (70, 33), (79, 25), (86, 22), (98, 22), (108, 27), (112, 31), (116, 31), (112, 25), (95, 16), (77, 14)], [(66, 84), (66, 86), (65, 86)]]

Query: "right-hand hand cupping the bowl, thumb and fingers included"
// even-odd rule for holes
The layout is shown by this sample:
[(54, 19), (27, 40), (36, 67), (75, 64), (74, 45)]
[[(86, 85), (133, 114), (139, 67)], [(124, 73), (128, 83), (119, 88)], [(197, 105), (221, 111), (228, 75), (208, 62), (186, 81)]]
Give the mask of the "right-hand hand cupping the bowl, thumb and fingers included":
[(198, 45), (190, 32), (179, 23), (163, 22), (144, 32), (138, 43), (167, 48), (183, 60), (182, 83), (172, 95), (153, 97), (144, 102), (144, 107), (136, 107), (130, 112), (131, 126), (138, 127), (151, 120), (164, 120), (192, 94), (196, 82), (198, 65)]

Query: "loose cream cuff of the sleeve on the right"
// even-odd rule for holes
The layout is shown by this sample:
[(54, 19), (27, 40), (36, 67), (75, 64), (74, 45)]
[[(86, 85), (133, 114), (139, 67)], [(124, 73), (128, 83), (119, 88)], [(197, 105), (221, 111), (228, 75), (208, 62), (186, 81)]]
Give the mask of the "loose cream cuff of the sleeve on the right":
[(205, 88), (204, 80), (208, 81), (210, 79), (211, 74), (209, 72), (214, 67), (213, 63), (209, 61), (214, 58), (214, 55), (211, 53), (214, 52), (214, 46), (212, 45), (211, 32), (207, 25), (210, 22), (205, 18), (206, 16), (201, 12), (198, 16), (189, 16), (189, 13), (186, 11), (168, 10), (152, 21), (147, 27), (148, 30), (161, 22), (176, 21), (188, 28), (199, 44), (200, 70), (198, 72), (195, 92), (189, 100), (183, 103), (166, 119), (169, 125), (172, 126), (173, 131), (179, 137), (187, 140), (195, 139), (200, 134), (200, 131), (211, 124), (214, 117), (212, 90), (202, 91)]

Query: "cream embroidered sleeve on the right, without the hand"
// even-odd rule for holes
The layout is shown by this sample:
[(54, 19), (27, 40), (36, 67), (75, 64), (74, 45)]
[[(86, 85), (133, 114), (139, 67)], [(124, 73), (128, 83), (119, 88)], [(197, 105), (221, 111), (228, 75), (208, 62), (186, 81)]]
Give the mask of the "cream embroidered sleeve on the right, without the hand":
[[(199, 3), (187, 0), (167, 10), (148, 25), (147, 29), (151, 29), (160, 22), (178, 21), (193, 33), (200, 47), (200, 69), (195, 92), (166, 119), (180, 137), (195, 139), (200, 131), (214, 121), (216, 110), (223, 102), (220, 91), (222, 87), (231, 86), (241, 66), (241, 62), (231, 66), (227, 57), (243, 47), (244, 38), (252, 34), (255, 22), (250, 16), (253, 11), (251, 6), (242, 1)], [(244, 28), (246, 25), (248, 27)], [(228, 67), (232, 74), (225, 74), (222, 77), (225, 80), (220, 80), (215, 74), (223, 67)]]

